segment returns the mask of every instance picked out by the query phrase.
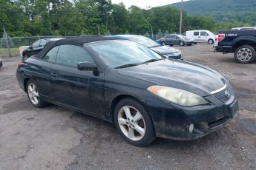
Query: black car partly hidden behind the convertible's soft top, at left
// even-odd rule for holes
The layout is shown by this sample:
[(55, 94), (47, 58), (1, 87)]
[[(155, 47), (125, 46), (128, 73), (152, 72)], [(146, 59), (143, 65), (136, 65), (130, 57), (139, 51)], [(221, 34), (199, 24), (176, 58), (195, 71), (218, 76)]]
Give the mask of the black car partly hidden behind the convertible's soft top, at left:
[(60, 39), (62, 38), (45, 38), (45, 39), (39, 39), (35, 41), (30, 47), (28, 47), (27, 50), (24, 50), (22, 52), (22, 61), (24, 61), (25, 59), (29, 58), (32, 55), (36, 55), (37, 53), (39, 53), (45, 47), (47, 42), (57, 41)]

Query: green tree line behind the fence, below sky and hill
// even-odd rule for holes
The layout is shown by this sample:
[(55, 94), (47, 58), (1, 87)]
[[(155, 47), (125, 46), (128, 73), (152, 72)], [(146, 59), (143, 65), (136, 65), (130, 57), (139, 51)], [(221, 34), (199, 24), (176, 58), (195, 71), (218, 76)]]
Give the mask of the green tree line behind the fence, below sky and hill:
[[(113, 4), (111, 0), (0, 0), (1, 33), (8, 35), (102, 35), (178, 33), (180, 10), (170, 5), (141, 9)], [(183, 13), (186, 30), (233, 27), (210, 16)]]

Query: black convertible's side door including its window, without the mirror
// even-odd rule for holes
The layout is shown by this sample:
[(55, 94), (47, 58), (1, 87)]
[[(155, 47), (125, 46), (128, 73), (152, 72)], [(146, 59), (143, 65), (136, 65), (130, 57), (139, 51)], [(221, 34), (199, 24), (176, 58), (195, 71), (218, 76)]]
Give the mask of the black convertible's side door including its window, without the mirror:
[(79, 62), (94, 62), (93, 57), (82, 47), (60, 45), (53, 72), (54, 100), (62, 105), (105, 116), (104, 73), (80, 71)]

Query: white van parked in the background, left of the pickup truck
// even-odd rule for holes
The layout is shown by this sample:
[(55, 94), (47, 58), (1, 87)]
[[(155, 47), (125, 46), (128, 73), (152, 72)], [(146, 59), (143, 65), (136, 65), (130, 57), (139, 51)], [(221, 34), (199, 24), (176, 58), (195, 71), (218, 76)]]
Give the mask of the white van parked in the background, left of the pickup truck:
[(194, 39), (195, 43), (208, 42), (214, 44), (215, 35), (209, 30), (190, 30), (186, 32), (186, 36)]

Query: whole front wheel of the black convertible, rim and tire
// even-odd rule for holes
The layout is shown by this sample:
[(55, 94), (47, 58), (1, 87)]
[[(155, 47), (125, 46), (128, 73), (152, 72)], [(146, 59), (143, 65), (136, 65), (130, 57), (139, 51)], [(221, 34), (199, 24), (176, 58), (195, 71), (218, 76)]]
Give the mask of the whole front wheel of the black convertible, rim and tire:
[(146, 146), (155, 139), (153, 122), (148, 112), (133, 98), (125, 98), (116, 105), (114, 122), (119, 134), (134, 146)]

